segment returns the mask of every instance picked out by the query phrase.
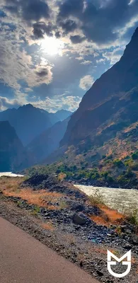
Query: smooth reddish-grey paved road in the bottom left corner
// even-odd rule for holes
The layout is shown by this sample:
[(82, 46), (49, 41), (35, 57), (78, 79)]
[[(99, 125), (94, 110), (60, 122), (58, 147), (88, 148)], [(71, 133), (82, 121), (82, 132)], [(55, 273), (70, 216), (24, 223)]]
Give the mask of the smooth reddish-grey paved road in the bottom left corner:
[(0, 217), (1, 283), (98, 283), (76, 265)]

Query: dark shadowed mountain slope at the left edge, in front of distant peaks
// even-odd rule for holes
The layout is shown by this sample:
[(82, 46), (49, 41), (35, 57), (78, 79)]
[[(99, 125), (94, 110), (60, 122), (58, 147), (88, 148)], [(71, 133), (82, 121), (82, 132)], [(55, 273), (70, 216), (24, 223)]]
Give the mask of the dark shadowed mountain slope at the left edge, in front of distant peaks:
[(16, 131), (8, 121), (0, 122), (0, 171), (21, 170), (31, 165)]

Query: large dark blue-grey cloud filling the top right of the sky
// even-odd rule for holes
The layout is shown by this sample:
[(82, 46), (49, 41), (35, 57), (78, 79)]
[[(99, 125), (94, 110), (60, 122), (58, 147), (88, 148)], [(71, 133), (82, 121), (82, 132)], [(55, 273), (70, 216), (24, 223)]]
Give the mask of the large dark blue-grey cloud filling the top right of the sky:
[(72, 16), (78, 18), (87, 39), (103, 44), (116, 40), (118, 34), (115, 30), (124, 28), (137, 16), (137, 11), (138, 1), (130, 4), (130, 0), (64, 0), (59, 5), (58, 17), (60, 21)]

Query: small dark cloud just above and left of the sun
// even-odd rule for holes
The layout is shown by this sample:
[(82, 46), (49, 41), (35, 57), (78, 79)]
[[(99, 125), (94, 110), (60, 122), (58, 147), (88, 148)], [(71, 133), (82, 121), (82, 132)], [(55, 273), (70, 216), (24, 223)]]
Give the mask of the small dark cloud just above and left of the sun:
[(54, 26), (52, 25), (52, 23), (48, 23), (48, 25), (46, 25), (44, 22), (33, 24), (33, 35), (36, 39), (43, 38), (45, 34), (47, 36), (53, 36), (53, 30)]

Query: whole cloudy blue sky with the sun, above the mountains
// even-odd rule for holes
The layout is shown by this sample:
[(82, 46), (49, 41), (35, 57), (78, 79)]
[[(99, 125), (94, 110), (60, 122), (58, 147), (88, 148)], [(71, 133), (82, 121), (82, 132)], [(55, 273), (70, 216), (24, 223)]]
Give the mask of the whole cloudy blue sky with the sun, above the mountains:
[(74, 111), (122, 56), (138, 0), (1, 0), (0, 111)]

